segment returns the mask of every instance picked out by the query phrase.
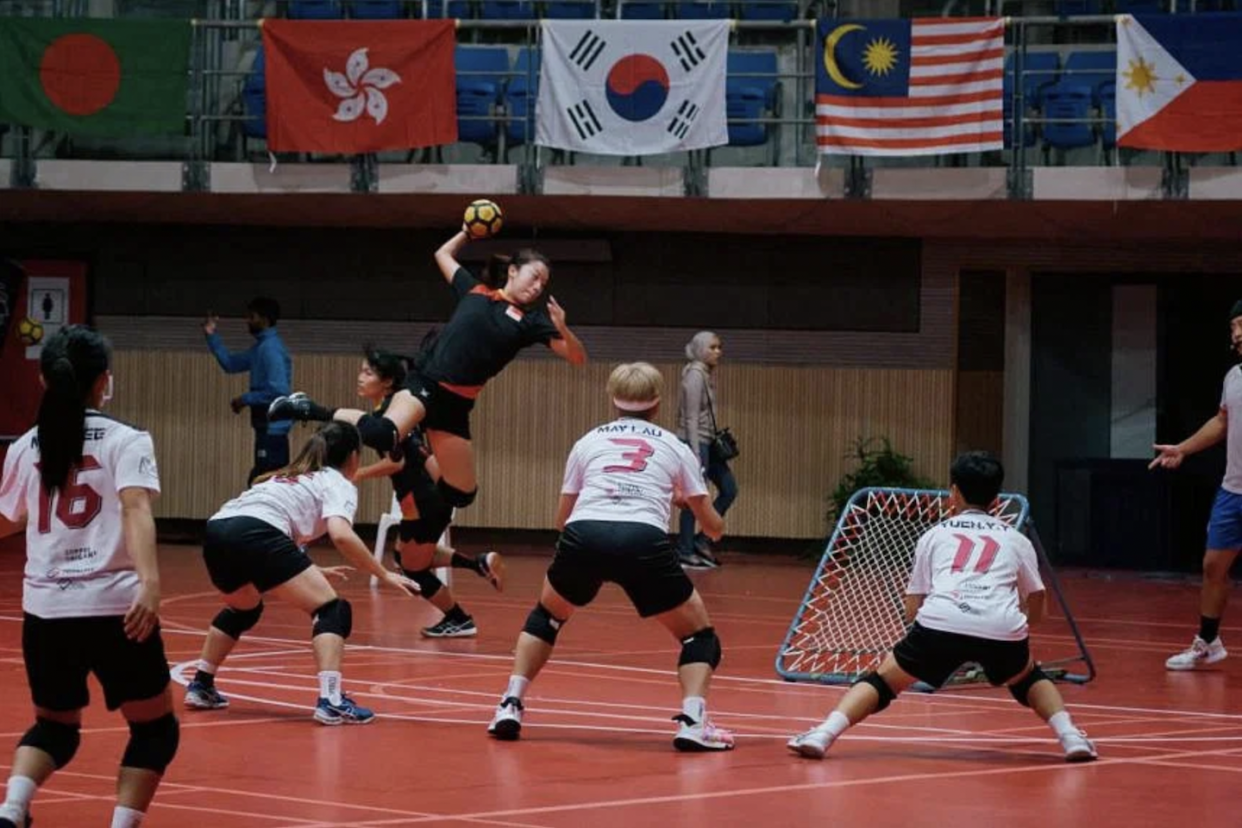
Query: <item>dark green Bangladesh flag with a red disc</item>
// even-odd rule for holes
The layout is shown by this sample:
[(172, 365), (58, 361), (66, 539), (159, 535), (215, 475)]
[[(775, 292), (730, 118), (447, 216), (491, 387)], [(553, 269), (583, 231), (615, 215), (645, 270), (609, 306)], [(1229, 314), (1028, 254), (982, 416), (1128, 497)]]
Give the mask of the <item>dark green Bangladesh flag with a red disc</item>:
[(186, 20), (0, 17), (0, 122), (180, 134), (189, 57)]

